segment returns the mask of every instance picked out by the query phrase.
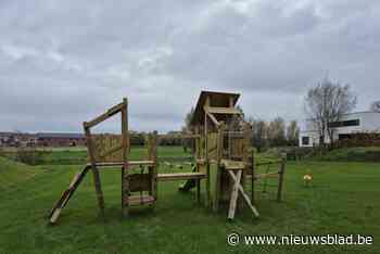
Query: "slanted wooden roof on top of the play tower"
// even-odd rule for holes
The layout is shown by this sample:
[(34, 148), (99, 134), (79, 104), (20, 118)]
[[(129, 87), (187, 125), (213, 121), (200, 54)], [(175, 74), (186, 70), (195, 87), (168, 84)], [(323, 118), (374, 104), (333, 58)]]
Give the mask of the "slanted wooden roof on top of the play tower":
[(201, 91), (191, 125), (202, 125), (204, 123), (205, 107), (207, 107), (207, 112), (218, 114), (220, 119), (227, 118), (231, 114), (241, 114), (235, 107), (239, 97), (239, 93)]

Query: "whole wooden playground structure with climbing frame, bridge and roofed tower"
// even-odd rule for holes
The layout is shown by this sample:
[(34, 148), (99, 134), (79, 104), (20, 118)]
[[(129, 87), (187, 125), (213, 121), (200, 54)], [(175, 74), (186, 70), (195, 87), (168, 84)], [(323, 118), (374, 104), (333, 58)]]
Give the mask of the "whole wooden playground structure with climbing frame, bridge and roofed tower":
[[(224, 204), (228, 206), (228, 218), (233, 219), (236, 212), (244, 204), (253, 215), (258, 217), (254, 206), (255, 181), (268, 178), (278, 179), (277, 200), (281, 200), (286, 160), (270, 163), (255, 163), (252, 147), (252, 129), (243, 120), (242, 113), (236, 107), (238, 93), (202, 91), (191, 119), (191, 135), (183, 139), (194, 141), (194, 166), (188, 173), (159, 174), (157, 132), (147, 135), (147, 158), (129, 160), (130, 142), (128, 131), (128, 101), (113, 106), (104, 114), (84, 123), (89, 163), (79, 172), (54, 204), (49, 215), (50, 224), (55, 224), (62, 209), (87, 175), (92, 172), (98, 205), (104, 215), (104, 198), (101, 188), (100, 169), (121, 168), (122, 178), (122, 214), (128, 216), (131, 206), (149, 205), (154, 207), (157, 201), (160, 181), (186, 181), (181, 191), (195, 188), (198, 203), (201, 203), (201, 181), (205, 181), (205, 205), (219, 211)], [(93, 135), (91, 128), (110, 117), (121, 114), (121, 135)], [(270, 165), (278, 169), (269, 172)], [(264, 174), (256, 168), (266, 166)], [(216, 183), (211, 194), (211, 170), (215, 170)], [(245, 189), (245, 186), (250, 188)], [(251, 191), (251, 196), (249, 194)]]

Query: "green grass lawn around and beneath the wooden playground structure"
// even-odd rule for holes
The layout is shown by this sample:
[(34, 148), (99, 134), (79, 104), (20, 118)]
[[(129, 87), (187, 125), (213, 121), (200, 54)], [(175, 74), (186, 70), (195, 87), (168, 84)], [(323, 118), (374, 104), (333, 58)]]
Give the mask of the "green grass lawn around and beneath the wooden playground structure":
[[(136, 150), (134, 156), (141, 156)], [(161, 148), (160, 156), (183, 156)], [(101, 173), (105, 221), (88, 175), (56, 226), (47, 214), (80, 165), (30, 167), (0, 157), (0, 253), (380, 253), (380, 165), (376, 163), (290, 162), (282, 203), (274, 192), (257, 192), (254, 219), (250, 211), (233, 223), (226, 213), (198, 206), (194, 193), (178, 192), (179, 182), (161, 182), (154, 211), (137, 208), (121, 218), (119, 170)], [(164, 166), (160, 172), (170, 172)], [(183, 170), (190, 170), (188, 167)], [(313, 174), (309, 188), (302, 176)], [(228, 233), (373, 236), (372, 245), (228, 246)]]

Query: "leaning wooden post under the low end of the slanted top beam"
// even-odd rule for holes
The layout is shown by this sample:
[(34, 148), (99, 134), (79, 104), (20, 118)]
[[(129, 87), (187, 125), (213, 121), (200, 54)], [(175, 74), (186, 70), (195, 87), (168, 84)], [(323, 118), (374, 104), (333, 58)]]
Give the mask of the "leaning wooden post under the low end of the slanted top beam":
[(104, 198), (103, 198), (103, 192), (102, 192), (102, 187), (101, 187), (101, 181), (100, 181), (100, 175), (99, 170), (97, 168), (97, 162), (94, 157), (94, 150), (93, 150), (93, 143), (91, 139), (91, 132), (90, 128), (88, 127), (88, 124), (85, 122), (84, 123), (84, 129), (85, 129), (85, 135), (86, 135), (86, 142), (87, 142), (87, 148), (88, 148), (88, 155), (91, 161), (91, 170), (93, 175), (93, 183), (97, 192), (97, 198), (98, 198), (98, 204), (100, 208), (100, 213), (102, 216), (104, 216)]

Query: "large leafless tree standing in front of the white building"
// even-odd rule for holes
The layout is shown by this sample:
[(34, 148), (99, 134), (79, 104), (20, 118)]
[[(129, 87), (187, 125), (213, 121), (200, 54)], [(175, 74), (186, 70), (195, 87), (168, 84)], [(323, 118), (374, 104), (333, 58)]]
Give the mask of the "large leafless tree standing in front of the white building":
[(305, 112), (318, 129), (320, 144), (325, 147), (325, 137), (333, 144), (334, 127), (330, 123), (339, 122), (342, 116), (356, 106), (357, 97), (350, 85), (342, 86), (325, 79), (311, 88), (305, 97)]

